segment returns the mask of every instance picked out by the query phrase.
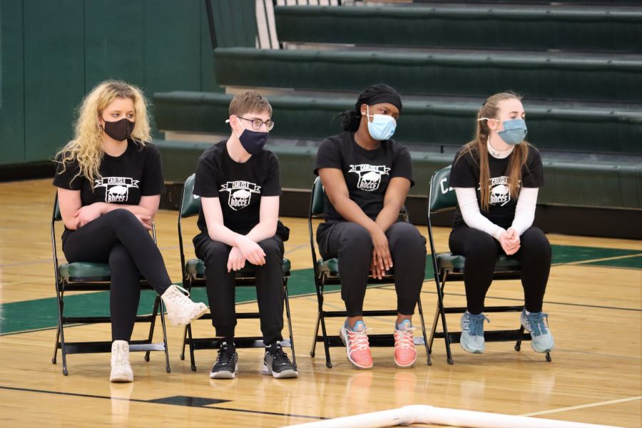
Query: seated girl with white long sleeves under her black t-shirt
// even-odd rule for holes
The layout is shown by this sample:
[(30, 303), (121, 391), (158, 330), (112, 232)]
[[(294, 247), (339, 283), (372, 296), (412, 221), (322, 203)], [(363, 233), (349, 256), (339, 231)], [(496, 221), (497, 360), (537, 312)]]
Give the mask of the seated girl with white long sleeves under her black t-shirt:
[(457, 210), (449, 246), (466, 256), (464, 285), (467, 311), (460, 344), (467, 352), (484, 352), (484, 298), (493, 280), (497, 255), (521, 262), (524, 310), (521, 324), (531, 332), (536, 352), (554, 349), (542, 310), (551, 270), (551, 245), (533, 226), (537, 193), (544, 185), (539, 151), (526, 137), (521, 97), (512, 92), (490, 96), (479, 109), (473, 141), (457, 152), (450, 187)]

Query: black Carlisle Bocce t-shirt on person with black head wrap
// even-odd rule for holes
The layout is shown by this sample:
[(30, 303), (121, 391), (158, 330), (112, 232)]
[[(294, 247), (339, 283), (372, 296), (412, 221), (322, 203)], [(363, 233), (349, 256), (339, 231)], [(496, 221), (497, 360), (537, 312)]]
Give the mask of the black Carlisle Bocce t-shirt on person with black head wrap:
[[(393, 140), (382, 141), (374, 150), (366, 150), (355, 141), (355, 133), (344, 132), (326, 138), (317, 152), (315, 174), (321, 168), (342, 170), (350, 199), (373, 220), (383, 208), (388, 183), (393, 177), (412, 180), (410, 152)], [(343, 220), (325, 195), (325, 220)]]

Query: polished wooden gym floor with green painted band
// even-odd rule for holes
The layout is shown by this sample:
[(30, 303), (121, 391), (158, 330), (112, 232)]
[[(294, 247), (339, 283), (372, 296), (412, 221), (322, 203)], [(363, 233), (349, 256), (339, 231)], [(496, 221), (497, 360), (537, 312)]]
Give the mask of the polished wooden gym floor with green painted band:
[[(640, 427), (642, 243), (633, 240), (549, 235), (554, 245), (544, 311), (556, 340), (552, 362), (524, 343), (489, 343), (484, 355), (453, 346), (454, 365), (447, 365), (444, 342), (436, 340), (433, 365), (418, 348), (417, 365), (397, 369), (391, 348), (373, 348), (374, 369), (354, 370), (344, 348), (332, 348), (334, 367), (325, 367), (322, 346), (310, 357), (316, 317), (307, 222), (283, 219), (292, 229), (286, 257), (292, 260), (290, 299), (297, 350), (298, 379), (261, 374), (262, 350), (239, 351), (239, 376), (210, 380), (215, 351), (196, 352), (197, 372), (182, 361), (183, 330), (168, 327), (171, 372), (154, 352), (150, 362), (131, 355), (136, 381), (108, 382), (109, 355), (68, 356), (69, 375), (60, 358), (51, 364), (56, 326), (54, 272), (49, 238), (54, 188), (50, 180), (0, 183), (0, 426), (216, 426), (276, 427), (322, 418), (374, 412), (407, 404), (520, 414), (594, 424)], [(170, 276), (180, 280), (177, 213), (161, 211), (156, 219), (158, 245)], [(188, 221), (188, 238), (194, 221)], [(419, 230), (426, 235), (425, 227)], [(437, 248), (447, 250), (449, 230), (437, 231)], [(190, 242), (188, 240), (190, 247)], [(436, 305), (435, 285), (427, 276), (422, 302), (429, 328)], [(141, 313), (151, 310), (150, 292)], [(71, 296), (70, 296), (71, 297)], [(195, 290), (196, 300), (205, 292)], [(514, 304), (522, 298), (519, 282), (497, 282), (487, 303)], [(238, 310), (251, 310), (252, 296), (242, 295)], [(463, 286), (447, 286), (446, 300), (460, 305)], [(337, 292), (327, 307), (342, 307)], [(394, 287), (367, 292), (366, 307), (387, 307)], [(518, 303), (519, 304), (519, 303)], [(107, 313), (108, 294), (71, 297), (70, 310)], [(516, 327), (518, 315), (491, 314), (486, 329)], [(340, 320), (328, 322), (330, 332)], [(419, 325), (419, 317), (414, 317)], [(457, 317), (450, 325), (459, 324)], [(375, 333), (391, 332), (391, 319), (368, 319)], [(195, 322), (195, 334), (213, 335), (208, 321)], [(257, 335), (258, 322), (240, 320), (238, 335)], [(160, 330), (157, 330), (157, 341)], [(284, 333), (286, 330), (284, 330)], [(145, 327), (136, 327), (142, 338)], [(68, 341), (108, 340), (108, 325), (66, 329)], [(290, 350), (287, 350), (290, 353)]]

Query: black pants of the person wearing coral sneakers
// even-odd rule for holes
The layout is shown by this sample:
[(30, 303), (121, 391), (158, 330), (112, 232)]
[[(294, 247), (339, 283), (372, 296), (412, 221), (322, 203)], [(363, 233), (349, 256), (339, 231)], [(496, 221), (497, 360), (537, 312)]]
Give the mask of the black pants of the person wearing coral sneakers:
[[(402, 221), (392, 224), (386, 236), (394, 268), (397, 311), (412, 315), (424, 282), (426, 238), (413, 225)], [(362, 315), (372, 262), (370, 233), (357, 223), (322, 223), (317, 229), (317, 243), (322, 258), (339, 258), (341, 298), (347, 315)]]

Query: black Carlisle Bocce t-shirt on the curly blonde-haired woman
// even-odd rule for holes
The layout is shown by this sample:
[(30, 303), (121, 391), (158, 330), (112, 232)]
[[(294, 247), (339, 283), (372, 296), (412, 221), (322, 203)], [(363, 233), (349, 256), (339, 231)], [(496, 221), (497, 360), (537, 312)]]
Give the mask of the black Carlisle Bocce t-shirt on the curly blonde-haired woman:
[(66, 163), (65, 171), (62, 170), (62, 163), (58, 163), (54, 185), (68, 190), (80, 190), (83, 206), (96, 202), (138, 205), (141, 196), (160, 195), (165, 189), (161, 152), (151, 143), (143, 146), (128, 140), (127, 148), (121, 156), (114, 157), (104, 153), (98, 168), (101, 178), (94, 181), (93, 189), (84, 175), (74, 178), (80, 170), (76, 161)]

